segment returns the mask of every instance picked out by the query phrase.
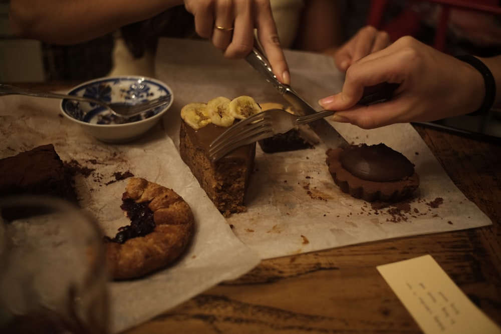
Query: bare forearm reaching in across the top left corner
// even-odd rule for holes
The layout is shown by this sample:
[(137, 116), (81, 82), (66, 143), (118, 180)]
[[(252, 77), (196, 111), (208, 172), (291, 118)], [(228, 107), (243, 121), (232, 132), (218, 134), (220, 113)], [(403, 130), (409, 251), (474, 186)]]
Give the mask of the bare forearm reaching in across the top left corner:
[(9, 19), (21, 38), (74, 44), (182, 4), (182, 0), (11, 0)]

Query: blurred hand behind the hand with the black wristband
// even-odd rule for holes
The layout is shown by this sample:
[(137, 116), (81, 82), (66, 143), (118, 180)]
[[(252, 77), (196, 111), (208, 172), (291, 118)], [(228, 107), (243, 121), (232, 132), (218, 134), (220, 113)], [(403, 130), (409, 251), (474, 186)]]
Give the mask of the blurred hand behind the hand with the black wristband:
[(366, 26), (336, 51), (334, 61), (340, 71), (346, 72), (360, 58), (382, 50), (390, 44), (388, 33)]

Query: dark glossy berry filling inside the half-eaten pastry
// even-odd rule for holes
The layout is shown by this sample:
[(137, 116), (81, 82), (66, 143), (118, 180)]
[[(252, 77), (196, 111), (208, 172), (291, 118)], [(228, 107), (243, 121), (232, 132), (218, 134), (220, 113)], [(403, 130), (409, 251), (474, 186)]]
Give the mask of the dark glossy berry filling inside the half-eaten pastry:
[(127, 212), (131, 223), (120, 227), (117, 235), (113, 239), (107, 238), (108, 241), (124, 243), (131, 238), (145, 236), (155, 228), (153, 211), (148, 207), (148, 203), (136, 203), (134, 200), (127, 198), (124, 199), (121, 208)]

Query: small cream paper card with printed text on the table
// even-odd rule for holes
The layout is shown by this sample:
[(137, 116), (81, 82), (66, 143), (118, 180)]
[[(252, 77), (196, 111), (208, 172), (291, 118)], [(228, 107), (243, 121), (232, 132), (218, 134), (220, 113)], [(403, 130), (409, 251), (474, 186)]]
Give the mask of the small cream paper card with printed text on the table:
[(377, 266), (425, 334), (500, 334), (430, 256)]

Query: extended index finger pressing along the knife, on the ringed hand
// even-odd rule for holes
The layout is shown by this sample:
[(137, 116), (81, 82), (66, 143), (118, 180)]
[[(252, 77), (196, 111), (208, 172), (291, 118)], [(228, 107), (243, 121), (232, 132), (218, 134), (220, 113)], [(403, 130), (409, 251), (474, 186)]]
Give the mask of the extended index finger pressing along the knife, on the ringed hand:
[(263, 46), (273, 73), (281, 83), (289, 85), (291, 83), (289, 65), (280, 45), (277, 26), (269, 2), (257, 6), (255, 17), (257, 18), (255, 25), (258, 30), (258, 39)]

